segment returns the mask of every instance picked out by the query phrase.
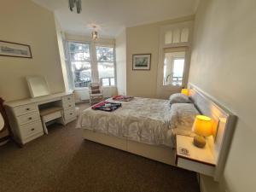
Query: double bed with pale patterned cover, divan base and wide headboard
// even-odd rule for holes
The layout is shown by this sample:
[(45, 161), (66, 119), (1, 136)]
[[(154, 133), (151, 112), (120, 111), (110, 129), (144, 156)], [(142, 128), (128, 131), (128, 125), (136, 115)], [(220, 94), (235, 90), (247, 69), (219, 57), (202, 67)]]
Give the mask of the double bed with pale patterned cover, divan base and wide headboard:
[(189, 88), (193, 104), (172, 104), (170, 108), (168, 100), (135, 98), (122, 102), (122, 107), (111, 113), (85, 109), (77, 127), (83, 129), (84, 139), (175, 166), (175, 135), (192, 136), (191, 127), (200, 111), (213, 120), (213, 136), (207, 140), (216, 158), (212, 177), (217, 180), (224, 168), (236, 116), (194, 85), (189, 84)]

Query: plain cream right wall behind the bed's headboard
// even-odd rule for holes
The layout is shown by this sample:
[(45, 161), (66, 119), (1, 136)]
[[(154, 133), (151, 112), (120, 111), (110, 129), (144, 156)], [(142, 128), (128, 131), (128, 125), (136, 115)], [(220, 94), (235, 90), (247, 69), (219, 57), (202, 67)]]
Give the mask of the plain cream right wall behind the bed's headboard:
[[(255, 10), (255, 0), (207, 0), (195, 19), (189, 82), (238, 116), (219, 191), (255, 191)], [(216, 183), (205, 183), (218, 192)]]

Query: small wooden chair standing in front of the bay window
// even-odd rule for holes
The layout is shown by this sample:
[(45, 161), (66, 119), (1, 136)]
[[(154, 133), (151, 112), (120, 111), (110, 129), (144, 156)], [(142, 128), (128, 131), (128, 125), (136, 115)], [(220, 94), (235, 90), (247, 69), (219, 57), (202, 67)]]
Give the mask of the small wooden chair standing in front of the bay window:
[(90, 83), (89, 86), (90, 105), (104, 100), (102, 86), (99, 83)]

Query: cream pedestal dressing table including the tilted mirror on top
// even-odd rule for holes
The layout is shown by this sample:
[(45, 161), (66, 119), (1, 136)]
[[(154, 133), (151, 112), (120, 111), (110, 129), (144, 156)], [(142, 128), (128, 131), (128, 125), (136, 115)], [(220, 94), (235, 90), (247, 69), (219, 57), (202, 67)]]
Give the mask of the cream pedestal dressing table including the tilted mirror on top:
[(44, 77), (32, 76), (26, 80), (32, 98), (4, 103), (13, 137), (20, 144), (44, 135), (45, 125), (40, 112), (45, 109), (61, 108), (62, 125), (76, 119), (73, 92), (50, 94)]

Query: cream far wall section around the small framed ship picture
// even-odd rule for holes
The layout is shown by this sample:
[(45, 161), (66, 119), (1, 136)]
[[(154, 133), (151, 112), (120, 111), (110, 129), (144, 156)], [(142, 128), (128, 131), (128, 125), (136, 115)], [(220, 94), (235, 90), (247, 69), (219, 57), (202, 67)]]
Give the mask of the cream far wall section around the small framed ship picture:
[[(187, 16), (174, 20), (165, 20), (143, 26), (133, 26), (126, 29), (126, 80), (127, 94), (156, 98), (157, 75), (159, 62), (160, 26), (194, 20), (194, 16)], [(149, 71), (133, 71), (133, 54), (151, 54), (151, 68)], [(161, 96), (167, 98), (173, 92)]]

